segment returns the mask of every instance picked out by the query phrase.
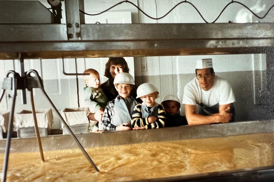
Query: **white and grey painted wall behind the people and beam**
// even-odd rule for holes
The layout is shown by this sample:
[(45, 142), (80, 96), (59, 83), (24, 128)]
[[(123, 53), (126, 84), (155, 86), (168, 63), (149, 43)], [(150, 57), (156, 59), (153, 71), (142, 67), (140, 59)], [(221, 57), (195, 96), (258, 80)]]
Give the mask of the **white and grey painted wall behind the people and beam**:
[[(101, 0), (101, 1), (85, 1), (84, 11), (86, 12), (100, 12), (112, 5), (120, 2), (119, 0)], [(152, 17), (160, 17), (168, 12), (174, 5), (179, 3), (178, 0), (132, 0), (146, 13)], [(230, 0), (190, 0), (197, 9), (201, 12), (204, 18), (211, 22), (221, 12), (223, 7)], [(247, 5), (260, 16), (274, 4), (274, 0), (241, 0), (240, 2)], [(49, 7), (46, 0), (41, 1), (46, 7)], [(214, 8), (213, 8), (214, 7)], [(63, 6), (63, 9), (65, 7)], [(135, 7), (129, 3), (123, 3), (110, 12), (116, 13), (116, 22), (120, 23), (204, 23), (202, 18), (198, 15), (196, 10), (188, 3), (183, 3), (176, 7), (169, 15), (158, 21), (150, 19), (140, 13)], [(121, 14), (122, 13), (122, 14)], [(124, 15), (126, 13), (127, 15)], [(131, 16), (131, 21), (124, 20), (123, 16)], [(216, 23), (247, 23), (247, 22), (274, 22), (274, 9), (269, 12), (269, 15), (259, 20), (244, 7), (239, 4), (232, 4), (223, 12), (221, 17)], [(65, 16), (63, 16), (65, 17)], [(88, 17), (86, 19), (89, 19)], [(65, 22), (65, 19), (62, 20)], [(202, 31), (202, 30), (201, 30)], [(126, 58), (130, 65), (130, 73), (135, 75), (138, 85), (145, 82), (154, 83), (160, 90), (160, 98), (157, 102), (161, 102), (162, 98), (168, 94), (175, 94), (182, 99), (184, 85), (195, 77), (195, 60), (200, 58), (212, 58), (213, 67), (216, 75), (226, 78), (231, 84), (237, 102), (236, 107), (236, 120), (254, 120), (254, 119), (267, 119), (273, 118), (271, 114), (267, 113), (260, 105), (255, 105), (255, 95), (258, 89), (258, 81), (255, 75), (263, 77), (263, 72), (266, 70), (265, 55), (211, 55), (211, 56), (154, 56), (154, 57), (135, 57)], [(66, 59), (65, 70), (69, 73), (76, 71), (75, 62), (77, 64), (77, 72), (82, 73), (86, 68), (96, 68), (100, 72), (101, 79), (103, 77), (104, 64), (107, 58), (81, 58), (81, 59)], [(39, 74), (44, 80), (45, 89), (49, 97), (53, 100), (57, 109), (62, 110), (65, 107), (78, 107), (76, 77), (65, 76), (61, 70), (61, 60), (25, 60), (25, 70), (37, 69)], [(147, 66), (146, 71), (142, 71), (142, 64)], [(18, 71), (18, 60), (5, 60), (0, 61), (0, 84), (2, 85), (5, 72), (7, 70)], [(83, 105), (82, 87), (84, 83), (82, 77), (78, 77), (79, 83), (79, 104)], [(256, 83), (258, 83), (256, 85)], [(6, 97), (0, 103), (0, 110), (7, 110), (10, 108), (11, 99), (9, 99), (9, 91)], [(29, 95), (27, 92), (27, 101)], [(39, 90), (35, 90), (35, 105), (37, 108), (49, 107), (46, 100), (42, 97)], [(16, 111), (22, 109), (31, 109), (28, 102), (27, 105), (21, 105), (20, 91), (18, 91), (18, 99), (16, 102)], [(181, 108), (181, 113), (184, 114), (184, 108)], [(53, 127), (59, 128), (60, 123), (56, 115), (54, 115), (55, 122)]]

